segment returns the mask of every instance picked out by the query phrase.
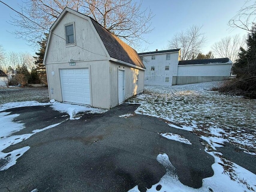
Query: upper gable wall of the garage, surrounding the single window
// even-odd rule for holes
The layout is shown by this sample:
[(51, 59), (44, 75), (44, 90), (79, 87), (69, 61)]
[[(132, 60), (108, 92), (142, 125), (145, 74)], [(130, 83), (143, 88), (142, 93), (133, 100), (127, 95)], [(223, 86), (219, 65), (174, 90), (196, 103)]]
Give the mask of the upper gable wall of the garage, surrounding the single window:
[[(76, 45), (66, 45), (65, 25), (74, 22), (74, 33)], [(48, 44), (47, 58), (45, 63), (75, 61), (106, 60), (109, 59), (103, 43), (100, 41), (95, 28), (90, 20), (80, 18), (67, 13), (53, 30)], [(60, 38), (60, 37), (62, 38)], [(88, 51), (87, 51), (88, 50)]]

